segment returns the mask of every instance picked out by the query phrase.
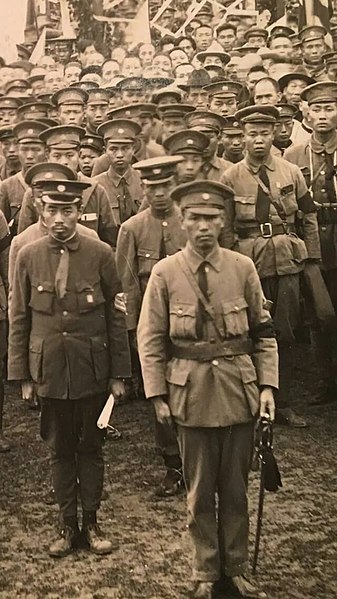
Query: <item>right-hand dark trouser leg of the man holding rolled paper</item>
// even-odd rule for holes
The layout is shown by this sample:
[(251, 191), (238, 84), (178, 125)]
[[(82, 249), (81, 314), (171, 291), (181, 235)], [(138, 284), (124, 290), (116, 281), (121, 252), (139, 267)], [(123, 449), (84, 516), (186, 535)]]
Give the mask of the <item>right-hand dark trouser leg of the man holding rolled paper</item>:
[(98, 417), (106, 402), (104, 397), (90, 397), (78, 402), (77, 472), (83, 511), (96, 512), (100, 507), (103, 478), (104, 431), (97, 426)]

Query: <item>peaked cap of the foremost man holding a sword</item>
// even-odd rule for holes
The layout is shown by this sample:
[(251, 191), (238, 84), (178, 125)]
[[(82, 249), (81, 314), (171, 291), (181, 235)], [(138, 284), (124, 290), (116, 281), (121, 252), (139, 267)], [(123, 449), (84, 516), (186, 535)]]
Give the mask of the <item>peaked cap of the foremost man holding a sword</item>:
[(181, 209), (190, 208), (196, 214), (208, 216), (217, 216), (233, 196), (234, 191), (227, 185), (205, 180), (182, 183), (171, 192), (172, 200)]

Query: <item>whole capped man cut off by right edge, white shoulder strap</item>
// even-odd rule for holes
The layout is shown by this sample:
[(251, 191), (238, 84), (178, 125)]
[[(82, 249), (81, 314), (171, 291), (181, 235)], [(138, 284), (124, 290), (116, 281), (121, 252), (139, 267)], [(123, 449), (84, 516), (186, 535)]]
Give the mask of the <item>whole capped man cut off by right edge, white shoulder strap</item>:
[[(306, 143), (286, 150), (284, 158), (307, 173), (318, 210), (322, 275), (337, 314), (337, 83), (315, 83), (301, 97), (308, 102), (313, 133)], [(323, 382), (321, 394), (312, 403), (333, 401), (337, 395), (335, 335), (329, 336), (318, 323), (314, 323), (311, 335)]]

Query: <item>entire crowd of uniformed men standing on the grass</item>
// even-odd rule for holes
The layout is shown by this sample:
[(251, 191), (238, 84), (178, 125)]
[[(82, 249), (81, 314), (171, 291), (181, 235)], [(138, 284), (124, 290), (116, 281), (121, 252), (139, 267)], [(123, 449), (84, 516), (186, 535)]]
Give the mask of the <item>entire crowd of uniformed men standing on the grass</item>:
[(192, 596), (262, 599), (254, 426), (307, 427), (290, 396), (303, 327), (313, 403), (337, 399), (337, 52), (322, 27), (211, 20), (106, 58), (63, 40), (33, 65), (19, 45), (0, 68), (0, 451), (7, 372), (50, 449), (50, 555), (110, 553), (97, 419), (109, 393), (151, 400), (156, 492), (187, 494)]

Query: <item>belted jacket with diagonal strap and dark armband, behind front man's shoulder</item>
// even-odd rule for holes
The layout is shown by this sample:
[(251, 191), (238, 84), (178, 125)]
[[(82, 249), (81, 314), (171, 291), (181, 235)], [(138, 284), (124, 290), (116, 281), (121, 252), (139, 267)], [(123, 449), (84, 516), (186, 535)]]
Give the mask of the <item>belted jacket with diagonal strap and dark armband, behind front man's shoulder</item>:
[(239, 238), (237, 232), (240, 230), (248, 230), (254, 226), (259, 229), (256, 220), (258, 182), (254, 178), (258, 168), (244, 158), (231, 166), (222, 179), (223, 183), (232, 187), (235, 194), (233, 202), (227, 204), (227, 220), (232, 227), (232, 247), (252, 258), (261, 278), (296, 274), (303, 270), (308, 257), (320, 259), (321, 256), (316, 208), (298, 166), (271, 154), (265, 166), (273, 203), (278, 206), (276, 209), (273, 203), (270, 204), (269, 222), (272, 226), (282, 225), (278, 212), (281, 210), (286, 223), (299, 230), (300, 215), (303, 240), (295, 233), (265, 238), (260, 232), (256, 232), (245, 239)]

